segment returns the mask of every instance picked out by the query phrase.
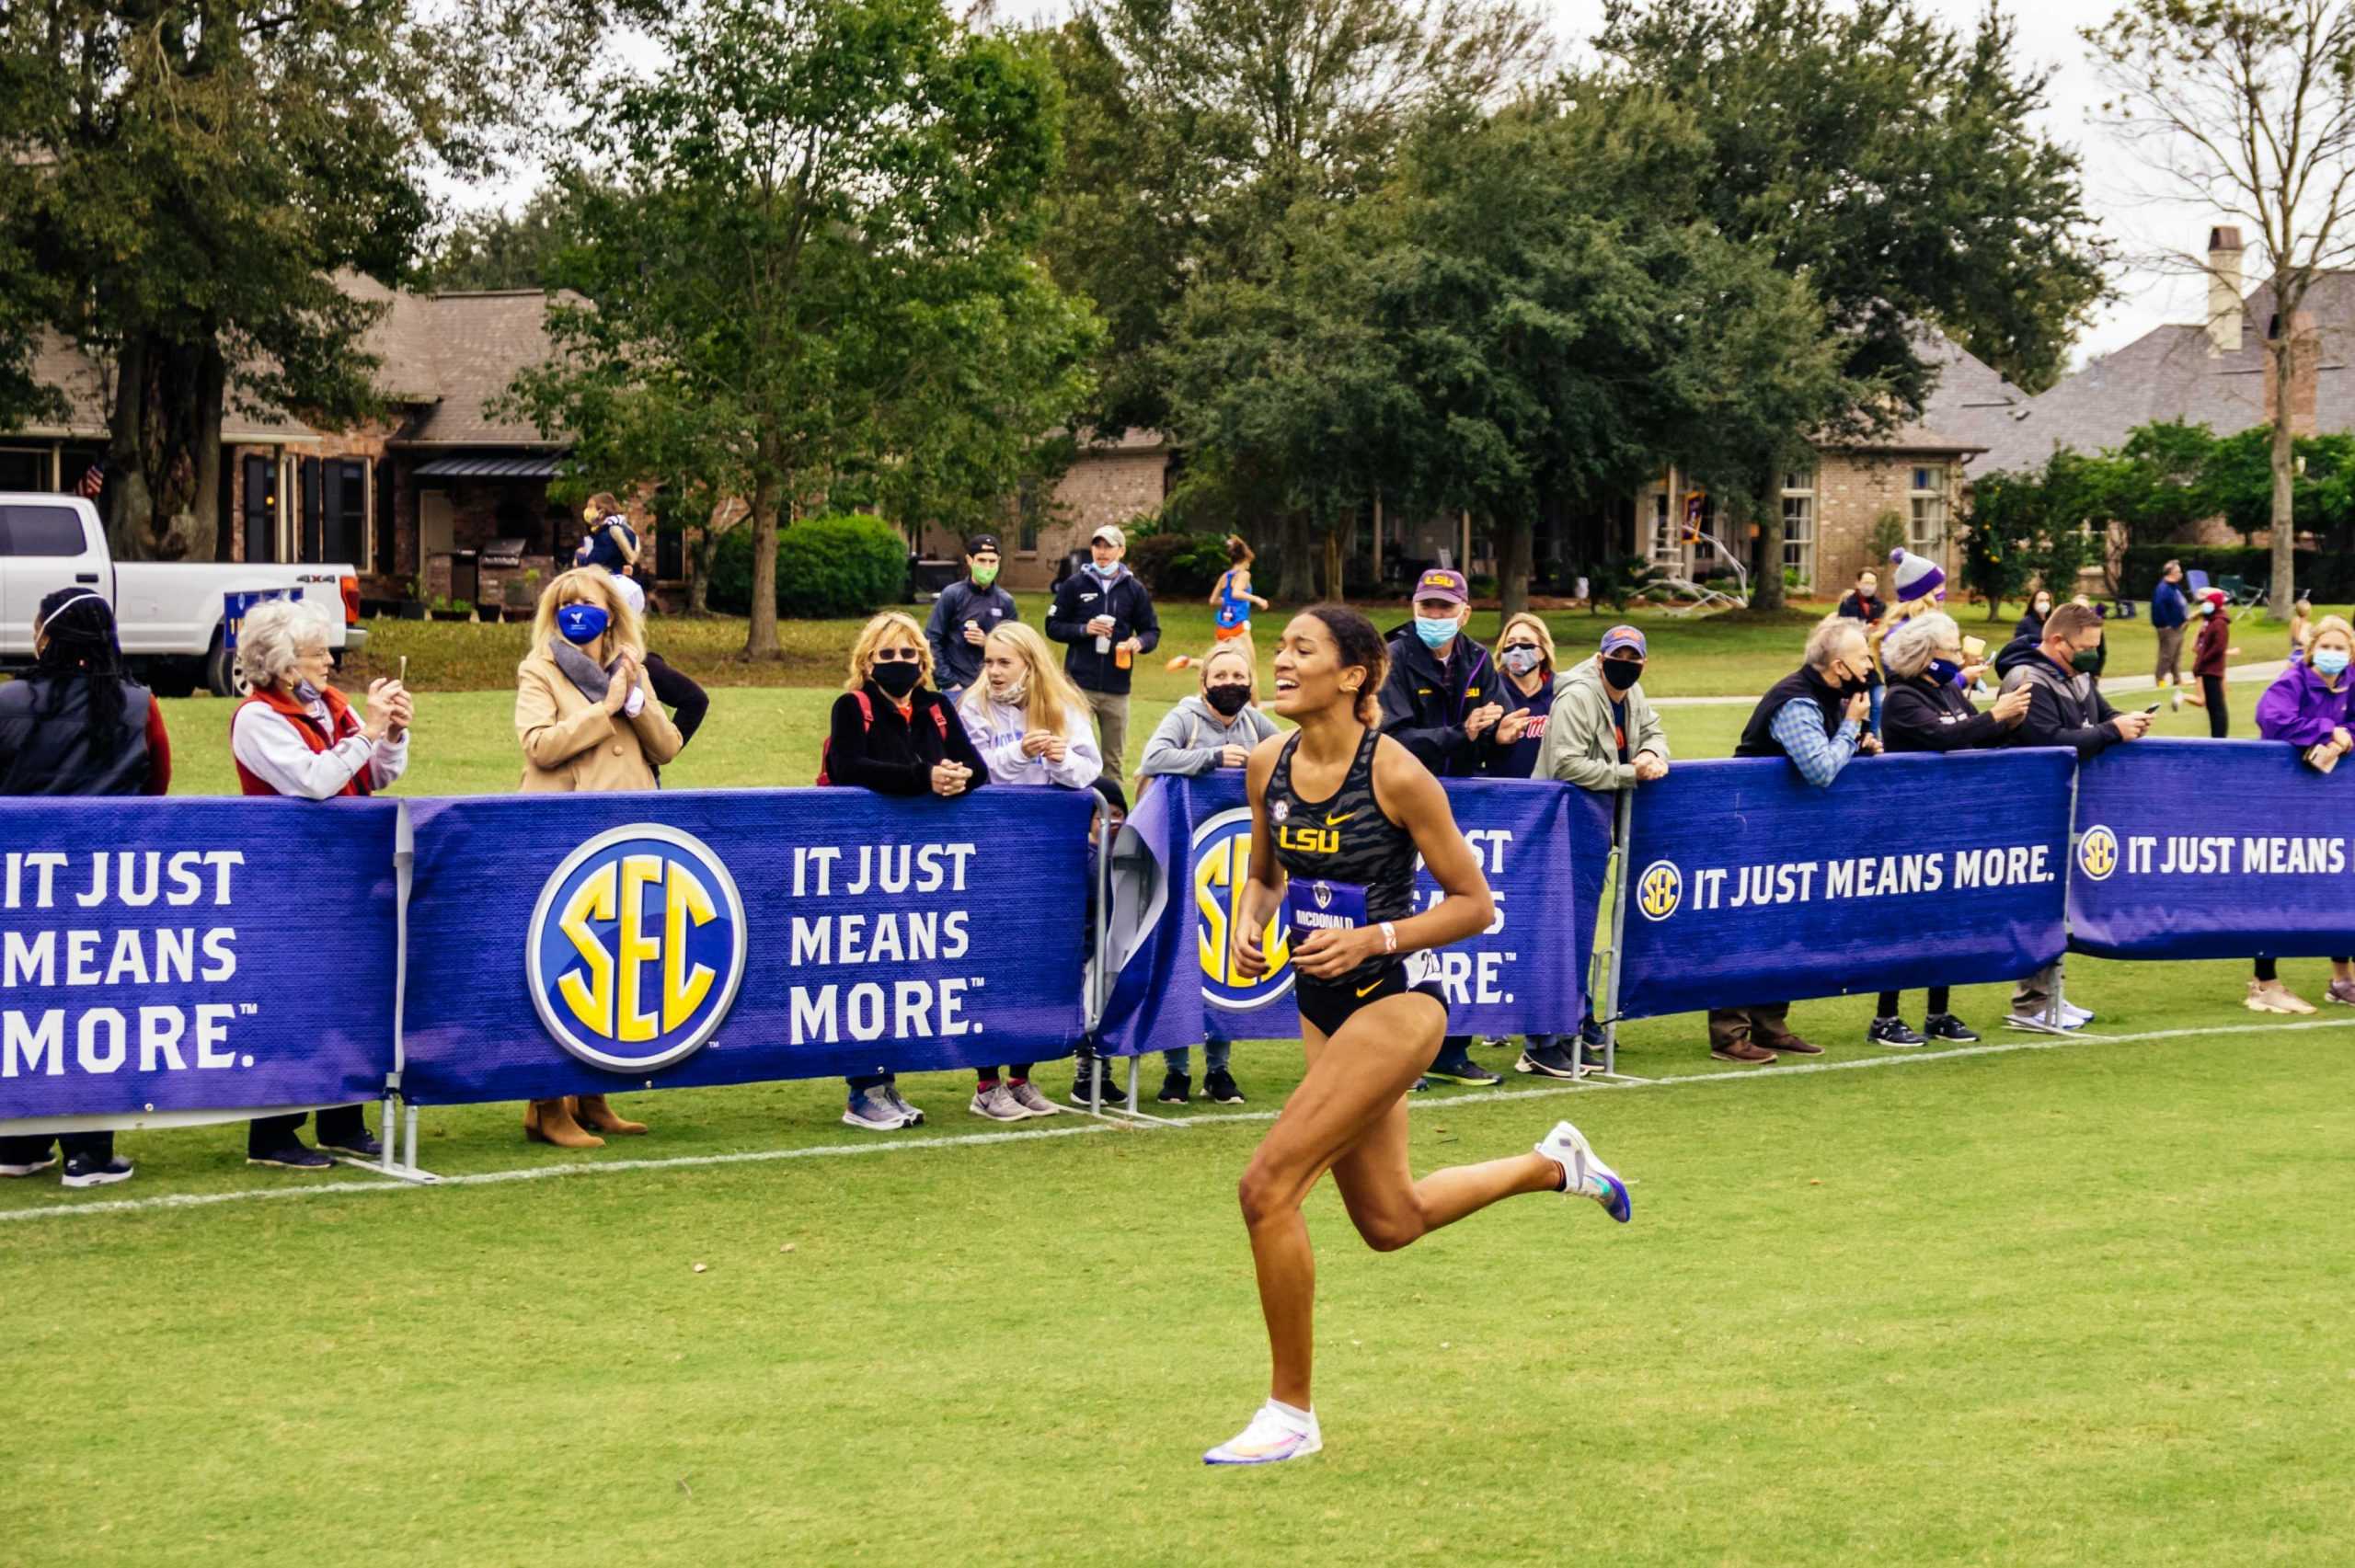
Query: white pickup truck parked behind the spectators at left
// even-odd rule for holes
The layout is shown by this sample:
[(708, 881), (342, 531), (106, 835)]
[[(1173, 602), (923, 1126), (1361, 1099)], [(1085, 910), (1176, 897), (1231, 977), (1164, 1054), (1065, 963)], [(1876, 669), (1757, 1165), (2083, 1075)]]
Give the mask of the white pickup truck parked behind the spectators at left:
[(214, 697), (238, 692), (221, 647), (228, 593), (301, 589), (327, 610), (334, 662), (367, 645), (360, 626), (360, 577), (349, 565), (219, 565), (125, 560), (106, 551), (99, 509), (73, 494), (0, 492), (0, 669), (33, 662), (33, 614), (54, 589), (87, 586), (115, 607), (122, 655), (158, 697), (186, 697), (198, 685)]

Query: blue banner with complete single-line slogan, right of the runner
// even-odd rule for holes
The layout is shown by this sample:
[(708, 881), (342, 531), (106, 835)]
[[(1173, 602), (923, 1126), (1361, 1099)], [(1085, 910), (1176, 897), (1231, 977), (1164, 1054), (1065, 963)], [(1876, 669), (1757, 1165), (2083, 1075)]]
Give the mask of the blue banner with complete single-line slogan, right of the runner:
[(2070, 751), (1677, 763), (1634, 796), (1620, 1017), (2016, 979), (2063, 946)]

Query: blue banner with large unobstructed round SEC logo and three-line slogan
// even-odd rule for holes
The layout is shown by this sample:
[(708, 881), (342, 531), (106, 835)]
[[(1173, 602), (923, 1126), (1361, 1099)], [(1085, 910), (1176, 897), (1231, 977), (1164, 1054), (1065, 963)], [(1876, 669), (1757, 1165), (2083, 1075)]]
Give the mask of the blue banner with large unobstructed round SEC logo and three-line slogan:
[(549, 1099), (1067, 1055), (1093, 791), (410, 805), (403, 1092)]

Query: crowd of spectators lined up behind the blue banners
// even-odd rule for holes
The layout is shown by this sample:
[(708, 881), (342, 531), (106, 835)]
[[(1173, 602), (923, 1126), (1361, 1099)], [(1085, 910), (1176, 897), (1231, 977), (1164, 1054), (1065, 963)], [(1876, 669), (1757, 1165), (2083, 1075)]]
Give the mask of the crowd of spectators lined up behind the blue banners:
[[(704, 690), (648, 650), (645, 593), (633, 579), (638, 539), (612, 497), (584, 509), (575, 567), (539, 598), (530, 650), (516, 671), (520, 791), (645, 791), (692, 742), (709, 711)], [(991, 784), (1093, 791), (1090, 859), (1107, 855), (1128, 812), (1123, 791), (1128, 711), (1140, 657), (1161, 640), (1152, 593), (1128, 570), (1126, 537), (1100, 527), (1088, 560), (1055, 589), (1043, 633), (1022, 622), (999, 586), (1001, 542), (966, 542), (966, 574), (949, 584), (926, 624), (883, 612), (857, 633), (820, 756), (820, 784), (888, 796), (966, 800)], [(1137, 786), (1161, 777), (1203, 777), (1246, 768), (1276, 735), (1260, 709), (1251, 612), (1251, 546), (1229, 539), (1229, 567), (1210, 593), (1215, 638), (1168, 669), (1192, 669), (1194, 685), (1145, 739)], [(1778, 758), (1811, 789), (1830, 789), (1858, 758), (1952, 753), (2004, 746), (2065, 746), (2094, 758), (2143, 739), (2148, 711), (2122, 713), (2101, 692), (2105, 614), (2084, 598), (2039, 591), (2009, 647), (1988, 657), (1945, 614), (1938, 567), (1908, 551), (1891, 556), (1896, 600), (1882, 572), (1860, 572), (1804, 643), (1797, 669), (1757, 699), (1736, 756)], [(1644, 789), (1670, 772), (1667, 725), (1644, 692), (1648, 643), (1634, 626), (1604, 631), (1597, 652), (1564, 662), (1535, 614), (1512, 614), (1493, 650), (1470, 633), (1472, 593), (1462, 572), (1420, 572), (1411, 617), (1389, 633), (1380, 727), (1437, 777), (1554, 779), (1583, 791)], [(2218, 591), (2185, 591), (2169, 563), (2152, 593), (2155, 685), (2164, 704), (2197, 704), (2211, 735), (2228, 732), (2225, 666), (2230, 605)], [(0, 683), (0, 793), (160, 796), (172, 753), (162, 713), (130, 678), (108, 600), (89, 589), (49, 593), (33, 619), (35, 664)], [(2193, 640), (2185, 676), (2183, 645)], [(332, 800), (370, 796), (410, 765), (414, 697), (403, 680), (372, 680), (363, 704), (332, 683), (330, 626), (316, 605), (266, 603), (247, 612), (236, 671), (247, 695), (228, 725), (238, 786), (247, 796)], [(1060, 647), (1057, 647), (1060, 645)], [(2355, 629), (2298, 605), (2291, 659), (2256, 704), (2268, 742), (2291, 744), (2308, 768), (2329, 772), (2355, 751)], [(2197, 690), (2195, 685), (2197, 683)], [(1093, 888), (1090, 878), (1090, 888)], [(2018, 979), (2006, 1024), (2082, 1029), (2091, 1012), (2058, 994), (2058, 965)], [(1931, 986), (1919, 1029), (1900, 996), (1877, 998), (1865, 1041), (1919, 1048), (1981, 1036)], [(2355, 958), (2331, 958), (2327, 1001), (2355, 1005)], [(2258, 958), (2247, 1005), (2258, 1012), (2313, 1012), (2268, 958)], [(1448, 1036), (1425, 1081), (1493, 1085), (1472, 1036)], [(1592, 1015), (1575, 1036), (1528, 1036), (1514, 1071), (1575, 1078), (1601, 1067), (1604, 1026)], [(1790, 1024), (1790, 1001), (1729, 1001), (1707, 1012), (1707, 1050), (1731, 1064), (1764, 1067), (1823, 1048)], [(999, 1123), (1057, 1114), (1031, 1083), (1031, 1062), (982, 1067), (968, 1109)], [(1102, 1099), (1102, 1071), (1086, 1050), (1067, 1099)], [(1163, 1055), (1159, 1102), (1194, 1097), (1192, 1050)], [(1225, 1041), (1203, 1045), (1201, 1092), (1243, 1104)], [(313, 1142), (301, 1140), (313, 1123)], [(843, 1123), (893, 1132), (926, 1121), (888, 1067), (845, 1081)], [(528, 1140), (593, 1149), (608, 1137), (645, 1135), (605, 1095), (532, 1099)], [(52, 1144), (57, 1154), (52, 1154)], [(379, 1140), (363, 1107), (264, 1116), (247, 1125), (247, 1161), (285, 1170), (332, 1165), (334, 1154), (374, 1158)], [(64, 1158), (68, 1187), (132, 1175), (111, 1132), (0, 1140), (0, 1175), (33, 1175)]]

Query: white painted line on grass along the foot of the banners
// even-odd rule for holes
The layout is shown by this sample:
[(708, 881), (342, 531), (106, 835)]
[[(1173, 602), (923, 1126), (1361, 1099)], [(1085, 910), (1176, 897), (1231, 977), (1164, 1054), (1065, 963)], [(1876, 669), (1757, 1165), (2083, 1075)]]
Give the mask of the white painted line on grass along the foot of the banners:
[[(1495, 1104), (1505, 1099), (1557, 1099), (1561, 1095), (1641, 1095), (1646, 1090), (1712, 1085), (1712, 1083), (1778, 1083), (1809, 1074), (1849, 1074), (1872, 1067), (1908, 1067), (1915, 1062), (1959, 1062), (1964, 1057), (2004, 1057), (2018, 1050), (2070, 1050), (2075, 1045), (2138, 1045), (2150, 1041), (2200, 1041), (2235, 1034), (2301, 1034), (2313, 1029), (2355, 1029), (2355, 1017), (2315, 1019), (2306, 1024), (2218, 1024), (2209, 1029), (2148, 1029), (2143, 1034), (2103, 1036), (2032, 1036), (2025, 1041), (1995, 1041), (1985, 1045), (1957, 1045), (1952, 1050), (1903, 1050), (1884, 1057), (1853, 1057), (1844, 1062), (1792, 1062), (1759, 1067), (1752, 1071), (1679, 1074), (1672, 1078), (1620, 1078), (1618, 1083), (1547, 1083), (1543, 1088), (1474, 1090), (1470, 1095), (1411, 1097), (1408, 1111), (1446, 1111), (1460, 1104)], [(1067, 1111), (1079, 1125), (1072, 1128), (1024, 1128), (1020, 1132), (963, 1132), (942, 1137), (907, 1137), (871, 1144), (808, 1144), (798, 1149), (744, 1149), (739, 1154), (678, 1154), (650, 1161), (565, 1161), (563, 1165), (520, 1165), (516, 1170), (476, 1170), (471, 1175), (440, 1177), (433, 1187), (487, 1187), (495, 1182), (539, 1182), (546, 1177), (619, 1175), (626, 1170), (692, 1170), (702, 1165), (756, 1165), (765, 1161), (808, 1161), (857, 1154), (911, 1154), (916, 1149), (973, 1149), (984, 1144), (1024, 1144), (1043, 1137), (1079, 1137), (1088, 1132), (1142, 1132), (1135, 1123), (1097, 1121)], [(1248, 1121), (1274, 1121), (1274, 1111), (1210, 1111), (1206, 1116), (1168, 1118), (1173, 1128), (1206, 1128)], [(1154, 1118), (1161, 1121), (1161, 1118)], [(113, 1198), (106, 1203), (59, 1203), (54, 1208), (0, 1210), (5, 1220), (61, 1220), (75, 1215), (132, 1215), (170, 1208), (203, 1208), (207, 1203), (238, 1203), (247, 1198), (309, 1198), (318, 1194), (356, 1191), (429, 1191), (403, 1182), (316, 1182), (290, 1187), (245, 1187), (238, 1191), (162, 1194), (155, 1198)]]

